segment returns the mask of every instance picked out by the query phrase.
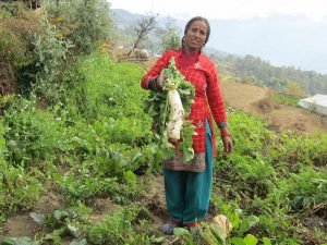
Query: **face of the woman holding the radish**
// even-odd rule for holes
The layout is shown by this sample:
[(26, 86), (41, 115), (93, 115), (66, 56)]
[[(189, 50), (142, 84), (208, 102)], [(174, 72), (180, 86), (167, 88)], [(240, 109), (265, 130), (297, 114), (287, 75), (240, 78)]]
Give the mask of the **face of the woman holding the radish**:
[(195, 21), (191, 24), (185, 35), (185, 47), (190, 52), (199, 51), (205, 44), (208, 26), (204, 21)]

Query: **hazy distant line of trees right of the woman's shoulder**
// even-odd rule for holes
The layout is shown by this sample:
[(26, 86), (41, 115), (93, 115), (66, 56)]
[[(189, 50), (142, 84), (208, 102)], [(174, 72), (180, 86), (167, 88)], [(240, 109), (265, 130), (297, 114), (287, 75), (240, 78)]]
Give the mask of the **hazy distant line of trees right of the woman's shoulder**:
[(306, 95), (327, 94), (327, 75), (314, 71), (302, 71), (292, 66), (274, 66), (253, 56), (213, 53), (221, 73), (232, 74), (237, 82), (269, 86), (286, 91), (290, 83), (296, 83)]

